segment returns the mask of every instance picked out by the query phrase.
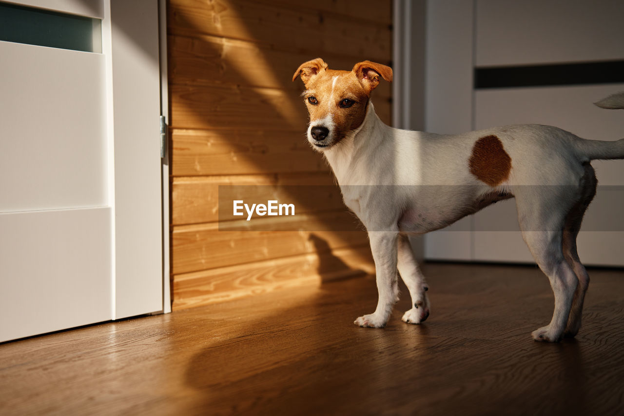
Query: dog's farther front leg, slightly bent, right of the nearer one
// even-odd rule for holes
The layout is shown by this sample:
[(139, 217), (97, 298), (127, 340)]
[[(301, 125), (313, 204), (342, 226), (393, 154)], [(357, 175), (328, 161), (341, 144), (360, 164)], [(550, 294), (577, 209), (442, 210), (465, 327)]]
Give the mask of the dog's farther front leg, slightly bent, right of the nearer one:
[(397, 251), (399, 274), (412, 297), (412, 309), (407, 310), (401, 319), (408, 324), (420, 324), (429, 317), (429, 297), (426, 293), (429, 290), (429, 285), (427, 285), (424, 275), (418, 268), (407, 235), (399, 235)]

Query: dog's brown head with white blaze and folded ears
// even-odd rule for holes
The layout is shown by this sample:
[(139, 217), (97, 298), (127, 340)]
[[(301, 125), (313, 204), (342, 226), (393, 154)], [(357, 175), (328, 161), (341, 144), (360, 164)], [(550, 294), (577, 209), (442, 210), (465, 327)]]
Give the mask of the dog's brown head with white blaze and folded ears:
[(293, 81), (298, 76), (306, 86), (302, 96), (310, 113), (308, 141), (324, 151), (362, 124), (371, 91), (379, 85), (380, 76), (392, 81), (392, 69), (364, 61), (351, 71), (335, 71), (316, 58), (301, 64)]

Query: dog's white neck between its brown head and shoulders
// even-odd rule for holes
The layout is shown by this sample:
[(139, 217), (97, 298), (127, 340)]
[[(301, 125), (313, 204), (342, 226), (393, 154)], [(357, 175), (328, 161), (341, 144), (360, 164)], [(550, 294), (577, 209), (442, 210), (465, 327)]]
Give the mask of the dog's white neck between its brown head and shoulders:
[(353, 178), (350, 177), (355, 171), (351, 166), (353, 156), (362, 146), (374, 146), (371, 141), (378, 137), (381, 138), (380, 135), (374, 134), (379, 126), (387, 127), (375, 112), (373, 102), (369, 101), (362, 124), (357, 129), (348, 132), (337, 146), (323, 152), (323, 156), (329, 162), (338, 184), (353, 184)]

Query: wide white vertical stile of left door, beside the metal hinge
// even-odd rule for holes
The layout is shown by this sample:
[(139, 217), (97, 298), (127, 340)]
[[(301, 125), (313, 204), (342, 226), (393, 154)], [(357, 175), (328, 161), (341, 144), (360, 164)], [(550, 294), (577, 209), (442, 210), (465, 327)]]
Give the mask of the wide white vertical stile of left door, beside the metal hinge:
[[(158, 2), (110, 2), (114, 316), (163, 310)], [(157, 277), (157, 279), (156, 279)]]

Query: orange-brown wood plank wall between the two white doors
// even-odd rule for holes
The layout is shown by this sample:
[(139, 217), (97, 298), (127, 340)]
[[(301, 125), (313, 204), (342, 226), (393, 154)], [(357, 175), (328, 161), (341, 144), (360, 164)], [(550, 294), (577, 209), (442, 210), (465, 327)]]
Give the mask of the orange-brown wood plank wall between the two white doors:
[[(217, 197), (223, 184), (333, 185), (305, 142), (303, 84), (291, 78), (315, 57), (333, 69), (364, 59), (391, 64), (391, 4), (168, 2), (173, 309), (374, 270), (366, 234), (337, 188), (331, 210), (302, 220), (323, 222), (322, 232), (279, 231), (279, 224), (276, 231), (227, 231), (223, 223), (219, 230)], [(389, 123), (390, 86), (373, 97)], [(305, 197), (293, 197), (305, 209)], [(341, 230), (331, 231), (337, 224)]]

